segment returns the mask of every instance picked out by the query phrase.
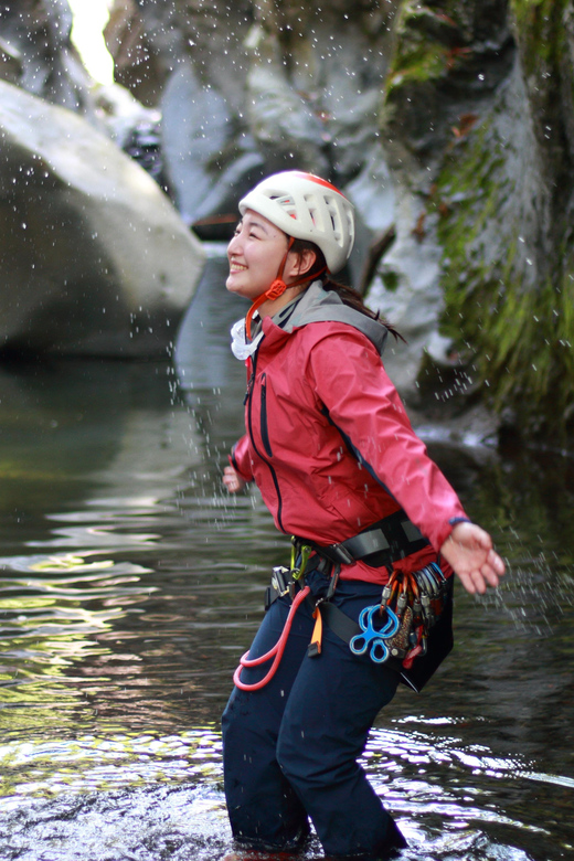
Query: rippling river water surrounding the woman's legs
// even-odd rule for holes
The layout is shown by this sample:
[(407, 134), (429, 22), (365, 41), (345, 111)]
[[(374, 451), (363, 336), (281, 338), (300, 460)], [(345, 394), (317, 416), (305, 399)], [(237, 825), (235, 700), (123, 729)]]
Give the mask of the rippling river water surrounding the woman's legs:
[[(232, 848), (219, 719), (288, 544), (256, 491), (221, 489), (245, 386), (224, 273), (212, 249), (177, 368), (0, 370), (1, 859)], [(509, 574), (458, 588), (454, 653), (380, 715), (365, 767), (404, 861), (573, 858), (574, 461), (419, 432)]]

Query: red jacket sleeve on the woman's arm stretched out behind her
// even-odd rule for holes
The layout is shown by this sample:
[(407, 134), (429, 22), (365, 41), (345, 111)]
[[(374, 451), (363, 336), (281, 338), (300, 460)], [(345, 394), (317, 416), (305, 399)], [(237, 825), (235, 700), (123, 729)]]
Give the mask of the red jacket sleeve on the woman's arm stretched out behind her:
[(454, 524), (468, 517), (414, 433), (374, 347), (344, 327), (315, 343), (308, 374), (330, 419), (364, 467), (438, 552)]

